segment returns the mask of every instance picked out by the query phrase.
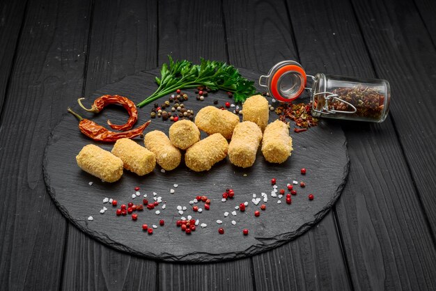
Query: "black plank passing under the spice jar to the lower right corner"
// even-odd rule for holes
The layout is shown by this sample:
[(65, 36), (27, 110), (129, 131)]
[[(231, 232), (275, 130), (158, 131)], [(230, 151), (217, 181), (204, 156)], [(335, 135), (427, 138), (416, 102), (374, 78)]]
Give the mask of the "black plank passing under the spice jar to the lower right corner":
[[(348, 1), (306, 1), (289, 7), (302, 65), (309, 73), (375, 77)], [(362, 17), (377, 15), (379, 8), (372, 6)], [(379, 26), (364, 29), (369, 27)], [(384, 66), (393, 63), (378, 61)], [(382, 124), (343, 122), (343, 128), (351, 164), (336, 212), (354, 288), (434, 289), (434, 242), (391, 118)]]

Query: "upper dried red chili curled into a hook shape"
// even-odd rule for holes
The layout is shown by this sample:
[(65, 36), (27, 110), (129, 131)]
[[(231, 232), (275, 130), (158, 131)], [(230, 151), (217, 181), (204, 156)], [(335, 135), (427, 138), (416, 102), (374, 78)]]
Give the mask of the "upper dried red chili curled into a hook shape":
[(93, 113), (99, 113), (102, 111), (104, 107), (106, 107), (109, 104), (120, 104), (123, 105), (123, 107), (127, 110), (127, 113), (129, 113), (129, 119), (127, 120), (127, 123), (124, 125), (114, 125), (111, 123), (111, 120), (107, 120), (107, 124), (112, 128), (116, 130), (127, 130), (131, 129), (132, 126), (137, 123), (138, 120), (138, 110), (137, 106), (132, 102), (131, 100), (127, 99), (126, 97), (120, 96), (120, 95), (102, 95), (102, 97), (98, 97), (95, 99), (93, 105), (91, 106), (91, 109), (87, 109), (84, 107), (83, 104), (81, 104), (81, 100), (84, 100), (85, 98), (79, 98), (77, 99), (77, 102), (79, 102), (79, 105), (81, 108), (85, 109), (88, 112)]

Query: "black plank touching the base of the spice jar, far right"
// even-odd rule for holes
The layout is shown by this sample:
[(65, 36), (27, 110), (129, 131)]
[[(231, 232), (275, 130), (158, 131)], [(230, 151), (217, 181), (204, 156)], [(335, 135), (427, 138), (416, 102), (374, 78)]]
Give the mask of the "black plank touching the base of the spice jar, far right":
[(377, 77), (391, 84), (390, 114), (435, 234), (436, 47), (410, 1), (352, 3)]

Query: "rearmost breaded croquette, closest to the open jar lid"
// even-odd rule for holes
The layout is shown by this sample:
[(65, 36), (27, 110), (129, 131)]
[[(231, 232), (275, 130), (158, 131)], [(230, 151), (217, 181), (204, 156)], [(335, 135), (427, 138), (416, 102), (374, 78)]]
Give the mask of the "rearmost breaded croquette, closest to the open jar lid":
[(256, 123), (263, 132), (270, 118), (270, 109), (267, 99), (262, 95), (254, 95), (247, 98), (244, 104), (242, 104), (242, 116), (243, 121)]

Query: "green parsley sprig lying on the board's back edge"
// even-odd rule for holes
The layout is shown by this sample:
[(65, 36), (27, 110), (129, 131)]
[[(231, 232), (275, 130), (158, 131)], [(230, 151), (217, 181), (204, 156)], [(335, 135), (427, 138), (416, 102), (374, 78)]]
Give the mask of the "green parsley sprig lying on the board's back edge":
[(200, 65), (194, 65), (187, 60), (174, 62), (171, 56), (168, 58), (169, 64), (162, 65), (160, 78), (155, 77), (159, 87), (155, 93), (140, 102), (138, 107), (143, 107), (177, 89), (197, 88), (198, 86), (207, 86), (211, 91), (221, 89), (231, 92), (235, 102), (244, 102), (247, 97), (256, 93), (254, 81), (242, 77), (233, 65), (220, 61), (207, 61), (204, 58), (201, 58)]

